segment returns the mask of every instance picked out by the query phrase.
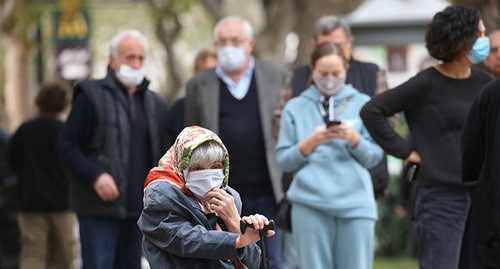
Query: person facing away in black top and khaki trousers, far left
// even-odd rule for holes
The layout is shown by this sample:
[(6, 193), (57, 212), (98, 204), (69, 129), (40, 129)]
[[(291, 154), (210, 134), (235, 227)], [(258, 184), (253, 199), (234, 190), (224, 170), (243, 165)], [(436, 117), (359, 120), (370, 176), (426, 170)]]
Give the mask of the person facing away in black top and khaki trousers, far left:
[(12, 136), (8, 160), (17, 175), (20, 269), (76, 268), (79, 257), (76, 216), (70, 210), (70, 178), (55, 150), (63, 127), (61, 113), (71, 89), (45, 83), (36, 97), (39, 116)]

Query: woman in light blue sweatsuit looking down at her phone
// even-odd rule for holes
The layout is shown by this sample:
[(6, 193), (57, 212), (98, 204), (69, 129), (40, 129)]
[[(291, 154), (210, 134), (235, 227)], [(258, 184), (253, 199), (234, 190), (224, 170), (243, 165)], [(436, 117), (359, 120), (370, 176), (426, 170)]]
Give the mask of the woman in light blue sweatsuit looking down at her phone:
[(369, 97), (345, 84), (338, 45), (318, 46), (311, 67), (310, 87), (283, 110), (276, 146), (294, 174), (287, 196), (301, 268), (371, 269), (377, 209), (367, 169), (383, 151), (359, 117)]

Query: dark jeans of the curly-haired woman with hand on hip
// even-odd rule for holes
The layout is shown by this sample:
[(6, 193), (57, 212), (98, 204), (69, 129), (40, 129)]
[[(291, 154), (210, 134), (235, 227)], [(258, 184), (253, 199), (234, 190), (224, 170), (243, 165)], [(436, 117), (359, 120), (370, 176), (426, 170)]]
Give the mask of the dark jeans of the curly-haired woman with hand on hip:
[(466, 190), (417, 187), (414, 221), (421, 269), (458, 268), (469, 206)]

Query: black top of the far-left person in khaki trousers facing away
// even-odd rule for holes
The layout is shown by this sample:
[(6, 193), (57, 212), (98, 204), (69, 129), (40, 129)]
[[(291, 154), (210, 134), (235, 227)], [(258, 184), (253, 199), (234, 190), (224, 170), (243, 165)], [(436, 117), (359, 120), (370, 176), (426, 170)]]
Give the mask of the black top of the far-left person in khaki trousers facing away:
[(62, 129), (59, 120), (37, 117), (23, 123), (12, 136), (8, 160), (17, 175), (20, 211), (69, 209), (69, 175), (55, 152)]

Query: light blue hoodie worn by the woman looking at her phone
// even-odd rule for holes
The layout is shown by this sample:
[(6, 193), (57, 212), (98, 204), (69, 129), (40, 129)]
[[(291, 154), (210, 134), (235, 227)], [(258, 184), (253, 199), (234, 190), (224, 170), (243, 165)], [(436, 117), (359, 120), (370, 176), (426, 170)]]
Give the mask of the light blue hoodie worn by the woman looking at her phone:
[[(276, 159), (284, 171), (293, 172), (289, 200), (342, 218), (377, 219), (373, 186), (368, 168), (383, 156), (382, 149), (365, 129), (359, 111), (370, 99), (350, 84), (335, 96), (335, 115), (360, 133), (359, 144), (332, 139), (303, 156), (299, 142), (324, 124), (318, 107), (320, 92), (314, 85), (291, 99), (281, 115)], [(348, 99), (345, 108), (341, 108)], [(343, 110), (339, 113), (339, 109)]]

